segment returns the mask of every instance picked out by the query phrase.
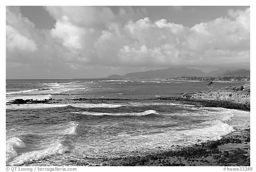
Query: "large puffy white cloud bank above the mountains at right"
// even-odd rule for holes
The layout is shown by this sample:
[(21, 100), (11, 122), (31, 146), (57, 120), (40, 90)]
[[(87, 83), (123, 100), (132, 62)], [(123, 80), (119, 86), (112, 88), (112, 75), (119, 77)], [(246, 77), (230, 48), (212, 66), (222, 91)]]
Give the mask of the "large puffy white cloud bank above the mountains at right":
[(250, 8), (192, 28), (148, 18), (112, 24), (96, 41), (101, 59), (122, 65), (216, 65), (249, 62)]

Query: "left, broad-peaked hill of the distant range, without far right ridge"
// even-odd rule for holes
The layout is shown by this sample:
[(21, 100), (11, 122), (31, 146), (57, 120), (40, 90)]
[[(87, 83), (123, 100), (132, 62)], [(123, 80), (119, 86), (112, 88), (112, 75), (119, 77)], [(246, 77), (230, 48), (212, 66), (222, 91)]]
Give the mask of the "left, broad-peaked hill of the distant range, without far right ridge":
[(111, 75), (108, 78), (164, 78), (179, 76), (205, 76), (205, 73), (198, 69), (188, 68), (168, 68), (159, 70), (150, 70), (146, 72), (127, 73), (126, 75)]

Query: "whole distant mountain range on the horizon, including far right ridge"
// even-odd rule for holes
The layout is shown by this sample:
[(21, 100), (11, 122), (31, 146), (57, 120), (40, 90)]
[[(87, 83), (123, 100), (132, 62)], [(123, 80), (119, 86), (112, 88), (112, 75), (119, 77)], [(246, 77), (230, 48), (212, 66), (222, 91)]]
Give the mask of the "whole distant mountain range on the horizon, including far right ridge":
[(110, 75), (108, 78), (164, 78), (164, 77), (180, 77), (180, 76), (250, 76), (250, 70), (237, 69), (227, 70), (218, 69), (209, 73), (204, 73), (198, 69), (188, 68), (168, 68), (159, 70), (150, 70), (145, 72), (127, 73), (123, 76)]

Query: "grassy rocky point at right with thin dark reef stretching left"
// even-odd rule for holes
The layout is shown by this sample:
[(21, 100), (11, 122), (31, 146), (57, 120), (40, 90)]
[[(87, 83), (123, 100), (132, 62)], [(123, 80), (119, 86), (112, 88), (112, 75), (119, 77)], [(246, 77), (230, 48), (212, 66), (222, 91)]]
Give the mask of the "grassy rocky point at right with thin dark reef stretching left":
[(80, 103), (84, 102), (107, 102), (111, 100), (121, 101), (136, 101), (136, 100), (172, 100), (182, 101), (189, 104), (198, 104), (205, 107), (223, 107), (228, 109), (237, 109), (250, 111), (250, 84), (242, 86), (229, 86), (226, 88), (217, 88), (212, 91), (203, 91), (195, 93), (176, 93), (177, 96), (156, 97), (151, 99), (88, 99), (88, 98), (74, 98), (74, 99), (15, 99), (8, 101), (9, 104), (36, 104), (36, 103)]

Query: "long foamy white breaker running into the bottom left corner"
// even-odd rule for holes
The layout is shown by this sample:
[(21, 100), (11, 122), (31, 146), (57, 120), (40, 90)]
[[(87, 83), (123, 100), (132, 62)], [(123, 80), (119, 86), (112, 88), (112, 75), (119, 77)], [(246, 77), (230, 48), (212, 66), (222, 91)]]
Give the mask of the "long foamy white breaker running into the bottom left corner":
[(51, 145), (47, 149), (23, 153), (20, 156), (15, 157), (7, 165), (8, 166), (18, 166), (18, 165), (22, 165), (24, 163), (38, 161), (40, 159), (44, 159), (49, 156), (53, 156), (53, 155), (57, 155), (57, 154), (64, 154), (66, 151), (68, 151), (67, 146), (62, 145), (61, 143), (56, 143), (54, 145)]

